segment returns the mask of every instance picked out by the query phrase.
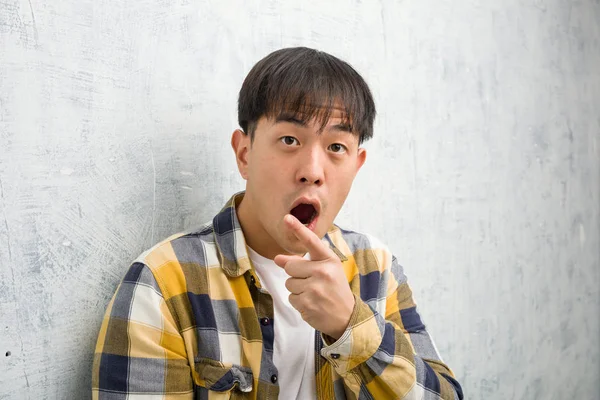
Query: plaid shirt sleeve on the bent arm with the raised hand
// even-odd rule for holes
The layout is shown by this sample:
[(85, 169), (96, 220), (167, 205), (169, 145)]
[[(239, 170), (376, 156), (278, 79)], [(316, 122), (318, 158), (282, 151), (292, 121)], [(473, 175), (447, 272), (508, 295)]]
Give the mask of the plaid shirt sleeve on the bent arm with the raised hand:
[[(441, 360), (421, 322), (403, 268), (395, 257), (379, 280), (375, 304), (355, 294), (350, 323), (337, 340), (323, 337), (321, 355), (356, 398), (463, 399), (454, 373)], [(328, 340), (329, 339), (329, 340)], [(333, 342), (333, 343), (332, 343)]]

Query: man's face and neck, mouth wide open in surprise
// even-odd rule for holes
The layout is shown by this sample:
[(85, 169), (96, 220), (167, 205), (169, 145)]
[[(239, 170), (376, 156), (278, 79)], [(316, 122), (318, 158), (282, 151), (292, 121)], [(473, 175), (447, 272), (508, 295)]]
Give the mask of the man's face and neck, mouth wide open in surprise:
[(265, 257), (306, 252), (284, 225), (287, 214), (323, 237), (366, 159), (358, 136), (342, 125), (339, 112), (319, 129), (315, 120), (263, 117), (253, 143), (241, 131), (234, 132), (238, 167), (247, 180), (240, 222), (248, 245)]

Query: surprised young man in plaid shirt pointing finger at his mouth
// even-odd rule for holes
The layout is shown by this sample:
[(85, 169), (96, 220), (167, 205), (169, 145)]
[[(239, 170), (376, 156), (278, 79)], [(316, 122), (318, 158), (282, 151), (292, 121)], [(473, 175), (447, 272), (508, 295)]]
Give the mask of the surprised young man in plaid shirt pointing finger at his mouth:
[(462, 399), (402, 267), (333, 224), (375, 105), (347, 63), (258, 62), (231, 139), (245, 192), (140, 256), (108, 305), (95, 399)]

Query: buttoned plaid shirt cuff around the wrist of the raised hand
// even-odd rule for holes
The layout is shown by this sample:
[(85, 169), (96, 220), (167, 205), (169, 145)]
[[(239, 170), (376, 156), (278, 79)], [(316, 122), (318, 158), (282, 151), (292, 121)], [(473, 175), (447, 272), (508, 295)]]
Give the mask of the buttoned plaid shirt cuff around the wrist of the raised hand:
[(371, 358), (383, 339), (385, 320), (364, 301), (354, 296), (348, 327), (338, 340), (321, 333), (323, 356), (341, 376)]

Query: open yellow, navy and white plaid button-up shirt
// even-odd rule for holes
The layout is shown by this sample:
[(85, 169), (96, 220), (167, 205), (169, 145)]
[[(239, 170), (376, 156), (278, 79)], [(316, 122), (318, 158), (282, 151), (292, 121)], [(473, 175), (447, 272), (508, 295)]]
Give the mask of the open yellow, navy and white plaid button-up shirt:
[[(94, 399), (277, 398), (277, 317), (246, 252), (235, 212), (242, 197), (131, 265), (100, 328)], [(395, 257), (335, 225), (323, 241), (342, 261), (356, 305), (339, 340), (315, 331), (318, 399), (462, 399)]]

